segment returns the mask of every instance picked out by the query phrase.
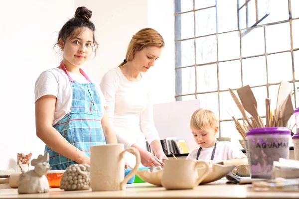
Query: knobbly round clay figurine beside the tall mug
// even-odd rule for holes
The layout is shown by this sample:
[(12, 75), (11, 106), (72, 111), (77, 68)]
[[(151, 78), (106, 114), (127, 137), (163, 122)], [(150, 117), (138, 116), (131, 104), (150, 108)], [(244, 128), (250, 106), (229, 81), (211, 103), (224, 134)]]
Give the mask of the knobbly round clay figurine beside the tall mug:
[(60, 181), (60, 189), (65, 191), (90, 189), (90, 166), (74, 164), (69, 166)]

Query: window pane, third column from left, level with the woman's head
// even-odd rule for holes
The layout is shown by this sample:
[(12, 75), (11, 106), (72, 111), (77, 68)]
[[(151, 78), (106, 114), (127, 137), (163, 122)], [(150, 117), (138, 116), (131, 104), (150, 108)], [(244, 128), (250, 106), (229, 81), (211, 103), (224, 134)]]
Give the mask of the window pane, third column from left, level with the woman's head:
[[(218, 35), (218, 59), (219, 61), (240, 58), (239, 31)], [(229, 49), (229, 50), (228, 50)]]

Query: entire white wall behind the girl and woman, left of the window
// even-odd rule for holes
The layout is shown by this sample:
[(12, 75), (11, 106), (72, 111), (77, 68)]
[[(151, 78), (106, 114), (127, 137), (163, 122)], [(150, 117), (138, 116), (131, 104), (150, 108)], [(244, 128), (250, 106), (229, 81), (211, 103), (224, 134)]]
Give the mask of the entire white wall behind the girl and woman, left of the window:
[(173, 0), (1, 0), (0, 170), (17, 170), (18, 152), (32, 152), (36, 158), (44, 151), (35, 134), (34, 84), (42, 71), (61, 61), (53, 45), (78, 6), (93, 11), (100, 44), (96, 57), (83, 67), (90, 78), (99, 83), (105, 72), (125, 59), (132, 35), (152, 27), (166, 43), (150, 72), (156, 76), (154, 101), (174, 100)]

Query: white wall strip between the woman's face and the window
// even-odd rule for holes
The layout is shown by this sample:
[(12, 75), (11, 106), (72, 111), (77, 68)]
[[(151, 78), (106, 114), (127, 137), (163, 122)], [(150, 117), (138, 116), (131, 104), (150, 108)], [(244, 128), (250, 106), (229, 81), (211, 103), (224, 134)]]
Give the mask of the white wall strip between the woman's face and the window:
[(154, 103), (174, 101), (174, 0), (148, 0), (148, 26), (163, 37), (165, 47), (155, 66), (149, 70), (153, 75)]

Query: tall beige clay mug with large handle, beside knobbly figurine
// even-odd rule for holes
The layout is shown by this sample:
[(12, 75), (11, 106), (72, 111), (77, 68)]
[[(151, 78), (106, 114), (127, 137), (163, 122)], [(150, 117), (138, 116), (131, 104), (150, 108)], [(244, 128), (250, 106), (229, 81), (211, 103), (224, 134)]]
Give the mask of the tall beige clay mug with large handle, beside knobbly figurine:
[[(125, 177), (125, 152), (136, 157), (136, 165)], [(123, 190), (127, 182), (136, 174), (140, 163), (139, 151), (134, 148), (124, 150), (124, 144), (106, 144), (90, 147), (90, 187), (92, 191)]]

